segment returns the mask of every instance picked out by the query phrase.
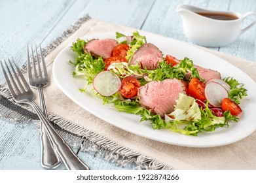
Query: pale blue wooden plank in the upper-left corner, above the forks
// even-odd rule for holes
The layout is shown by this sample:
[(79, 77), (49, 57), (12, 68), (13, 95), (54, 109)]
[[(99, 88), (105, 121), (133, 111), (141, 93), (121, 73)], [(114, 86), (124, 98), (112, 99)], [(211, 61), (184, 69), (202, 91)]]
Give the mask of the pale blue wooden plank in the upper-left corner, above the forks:
[(1, 2), (0, 58), (14, 57), (24, 64), (27, 44), (41, 42), (72, 4), (68, 0)]

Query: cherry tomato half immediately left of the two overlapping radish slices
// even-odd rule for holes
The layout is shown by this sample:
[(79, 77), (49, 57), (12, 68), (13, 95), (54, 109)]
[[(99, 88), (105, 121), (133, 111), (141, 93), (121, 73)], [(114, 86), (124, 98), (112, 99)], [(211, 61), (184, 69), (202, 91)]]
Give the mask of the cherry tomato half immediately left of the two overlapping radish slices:
[(206, 96), (204, 94), (204, 89), (206, 88), (206, 84), (200, 81), (198, 78), (192, 78), (189, 82), (189, 94), (195, 99), (199, 99), (201, 101), (206, 100)]

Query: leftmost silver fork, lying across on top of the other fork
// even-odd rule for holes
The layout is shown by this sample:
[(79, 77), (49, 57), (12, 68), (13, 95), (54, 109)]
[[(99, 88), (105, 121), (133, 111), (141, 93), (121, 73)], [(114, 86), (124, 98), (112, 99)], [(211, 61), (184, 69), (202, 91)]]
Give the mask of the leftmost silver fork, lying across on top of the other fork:
[[(52, 124), (48, 121), (47, 118), (45, 118), (45, 115), (41, 111), (41, 109), (37, 106), (37, 104), (33, 101), (35, 95), (32, 92), (31, 88), (29, 88), (29, 85), (27, 84), (24, 76), (22, 75), (20, 69), (16, 65), (16, 63), (13, 61), (16, 71), (14, 67), (12, 66), (12, 63), (9, 59), (9, 65), (7, 65), (7, 62), (5, 61), (5, 67), (7, 68), (7, 71), (5, 70), (5, 67), (3, 67), (2, 61), (0, 61), (1, 67), (3, 69), (3, 74), (5, 76), (5, 80), (7, 82), (7, 85), (9, 87), (10, 93), (17, 103), (26, 103), (31, 105), (37, 115), (39, 116), (41, 122), (43, 122), (43, 126), (46, 129), (46, 133), (48, 137), (50, 138), (50, 141), (54, 144), (58, 155), (64, 162), (67, 169), (72, 170), (88, 170), (88, 166), (85, 165), (81, 159), (69, 148), (69, 146), (66, 144), (64, 139), (58, 135)], [(14, 76), (12, 76), (12, 73)], [(9, 73), (9, 76), (7, 75)]]

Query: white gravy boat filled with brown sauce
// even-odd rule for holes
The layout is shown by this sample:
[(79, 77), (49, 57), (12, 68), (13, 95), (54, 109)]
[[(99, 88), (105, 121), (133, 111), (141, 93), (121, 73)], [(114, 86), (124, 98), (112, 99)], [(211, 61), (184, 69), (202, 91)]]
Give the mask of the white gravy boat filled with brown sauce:
[[(181, 14), (185, 36), (192, 42), (202, 46), (219, 47), (230, 44), (256, 24), (255, 20), (241, 29), (244, 18), (251, 14), (256, 15), (256, 12), (253, 11), (242, 15), (239, 12), (206, 10), (191, 5), (179, 5), (176, 11)], [(198, 13), (202, 13), (202, 15)], [(207, 16), (209, 15), (222, 15), (223, 18), (234, 20), (217, 20), (208, 18)]]

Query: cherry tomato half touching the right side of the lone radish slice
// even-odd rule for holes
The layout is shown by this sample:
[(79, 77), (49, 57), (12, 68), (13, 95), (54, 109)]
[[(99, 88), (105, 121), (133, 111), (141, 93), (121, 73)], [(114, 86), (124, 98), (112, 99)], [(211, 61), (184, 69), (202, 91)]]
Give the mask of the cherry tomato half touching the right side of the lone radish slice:
[(128, 99), (137, 95), (137, 90), (140, 87), (139, 81), (133, 76), (128, 76), (121, 81), (119, 89), (120, 94)]

